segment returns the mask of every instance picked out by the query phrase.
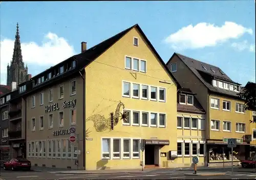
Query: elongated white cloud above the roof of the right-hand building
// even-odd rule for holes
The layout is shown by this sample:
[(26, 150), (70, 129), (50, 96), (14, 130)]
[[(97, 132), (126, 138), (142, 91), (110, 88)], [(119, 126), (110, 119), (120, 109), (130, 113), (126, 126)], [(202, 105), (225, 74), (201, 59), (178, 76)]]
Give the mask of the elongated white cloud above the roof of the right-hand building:
[(234, 22), (225, 21), (221, 27), (206, 22), (200, 22), (196, 26), (188, 25), (177, 32), (170, 34), (164, 41), (173, 49), (198, 49), (213, 47), (217, 43), (228, 39), (237, 39), (248, 33), (252, 35), (252, 29), (243, 27)]

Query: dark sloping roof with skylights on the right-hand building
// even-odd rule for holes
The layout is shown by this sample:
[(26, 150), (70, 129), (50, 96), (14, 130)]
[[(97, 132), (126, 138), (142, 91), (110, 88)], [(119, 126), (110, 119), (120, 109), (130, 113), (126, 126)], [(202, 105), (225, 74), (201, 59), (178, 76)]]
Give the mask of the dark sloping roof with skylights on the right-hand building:
[[(224, 80), (233, 84), (241, 85), (237, 82), (232, 81), (220, 68), (217, 66), (201, 62), (199, 60), (181, 55), (179, 53), (174, 53), (177, 55), (180, 60), (182, 60), (188, 68), (200, 79), (200, 81), (209, 89), (210, 92), (224, 94), (232, 97), (238, 97), (238, 92), (229, 91), (224, 88), (215, 87), (211, 83), (207, 82), (204, 78), (205, 76), (211, 76), (212, 78)], [(172, 58), (170, 58), (172, 59)], [(168, 63), (168, 62), (167, 62)], [(205, 71), (203, 66), (208, 70)], [(214, 72), (212, 71), (214, 70)]]

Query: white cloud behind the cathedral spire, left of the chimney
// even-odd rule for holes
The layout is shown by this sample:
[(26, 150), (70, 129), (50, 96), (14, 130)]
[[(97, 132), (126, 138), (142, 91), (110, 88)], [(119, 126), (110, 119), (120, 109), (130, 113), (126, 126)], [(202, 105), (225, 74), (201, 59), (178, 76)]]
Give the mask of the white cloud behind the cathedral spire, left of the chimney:
[[(1, 84), (6, 83), (7, 77), (7, 64), (10, 64), (12, 60), (14, 40), (3, 38), (1, 36)], [(23, 42), (22, 55), (24, 63), (32, 65), (54, 65), (57, 64), (75, 54), (73, 46), (63, 37), (58, 37), (56, 34), (49, 32), (45, 37), (41, 45), (36, 42)], [(29, 66), (28, 66), (29, 68)], [(42, 70), (44, 71), (44, 70)], [(34, 74), (29, 71), (29, 74)]]

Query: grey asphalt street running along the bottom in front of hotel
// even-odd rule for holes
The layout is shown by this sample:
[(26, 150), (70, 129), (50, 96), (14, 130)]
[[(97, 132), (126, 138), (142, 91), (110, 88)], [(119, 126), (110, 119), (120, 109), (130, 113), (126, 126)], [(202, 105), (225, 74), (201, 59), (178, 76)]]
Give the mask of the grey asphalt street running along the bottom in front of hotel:
[[(201, 171), (209, 172), (209, 171)], [(127, 173), (90, 173), (90, 174), (66, 174), (53, 172), (36, 172), (36, 171), (5, 171), (1, 169), (1, 179), (255, 179), (255, 173), (249, 172), (234, 172), (230, 175), (230, 171), (215, 171), (226, 172), (226, 175), (215, 176), (200, 176), (200, 175), (184, 175), (185, 173), (193, 173), (190, 171), (177, 170), (155, 170), (155, 171), (138, 171)]]

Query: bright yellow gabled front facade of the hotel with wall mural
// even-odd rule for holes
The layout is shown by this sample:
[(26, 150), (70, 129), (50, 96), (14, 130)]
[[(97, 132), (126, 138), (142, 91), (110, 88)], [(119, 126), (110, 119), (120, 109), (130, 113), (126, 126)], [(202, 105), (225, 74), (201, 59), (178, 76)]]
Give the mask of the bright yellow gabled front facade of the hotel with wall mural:
[(86, 170), (177, 166), (177, 83), (166, 70), (138, 25), (86, 66)]

